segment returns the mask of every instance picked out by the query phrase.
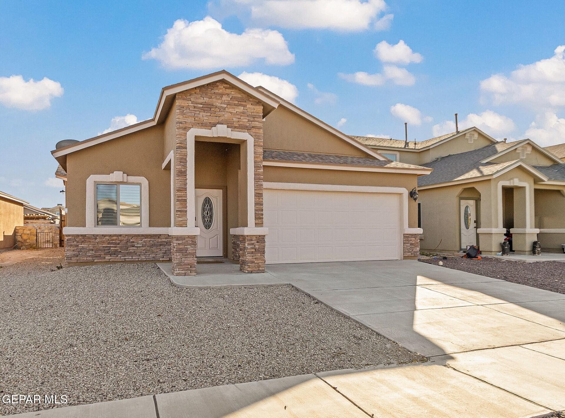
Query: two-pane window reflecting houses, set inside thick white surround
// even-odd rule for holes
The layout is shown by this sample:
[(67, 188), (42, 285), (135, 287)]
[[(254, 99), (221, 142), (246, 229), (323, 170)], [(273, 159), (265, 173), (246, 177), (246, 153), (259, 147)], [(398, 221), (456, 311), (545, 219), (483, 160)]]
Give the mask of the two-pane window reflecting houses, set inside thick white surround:
[(96, 225), (140, 227), (141, 185), (97, 183)]

